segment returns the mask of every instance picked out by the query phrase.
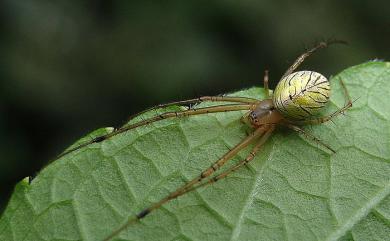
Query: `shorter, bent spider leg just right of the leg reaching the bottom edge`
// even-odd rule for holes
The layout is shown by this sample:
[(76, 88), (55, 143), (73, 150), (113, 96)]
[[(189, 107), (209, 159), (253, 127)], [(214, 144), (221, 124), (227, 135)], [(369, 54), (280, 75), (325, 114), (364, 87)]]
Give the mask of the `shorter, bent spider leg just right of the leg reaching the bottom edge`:
[[(264, 135), (258, 140), (258, 142), (256, 143), (256, 145), (254, 146), (254, 148), (252, 149), (252, 151), (249, 153), (249, 155), (241, 160), (240, 162), (238, 162), (236, 165), (232, 166), (231, 168), (227, 169), (226, 171), (222, 172), (221, 174), (218, 174), (217, 176), (214, 176), (210, 179), (208, 179), (206, 182), (203, 182), (199, 185), (196, 185), (196, 186), (193, 186), (189, 189), (186, 189), (186, 191), (184, 193), (187, 193), (187, 192), (191, 192), (195, 189), (198, 189), (200, 187), (203, 187), (203, 186), (206, 186), (206, 185), (210, 185), (212, 183), (215, 183), (225, 177), (227, 177), (228, 175), (230, 175), (232, 172), (235, 172), (236, 170), (238, 170), (240, 167), (242, 166), (245, 166), (247, 165), (249, 162), (251, 162), (257, 152), (260, 150), (260, 148), (264, 145), (264, 143), (268, 140), (268, 138), (271, 136), (272, 132), (275, 130), (275, 126), (271, 126), (269, 127), (269, 129), (264, 133)], [(184, 194), (182, 193), (182, 194)]]

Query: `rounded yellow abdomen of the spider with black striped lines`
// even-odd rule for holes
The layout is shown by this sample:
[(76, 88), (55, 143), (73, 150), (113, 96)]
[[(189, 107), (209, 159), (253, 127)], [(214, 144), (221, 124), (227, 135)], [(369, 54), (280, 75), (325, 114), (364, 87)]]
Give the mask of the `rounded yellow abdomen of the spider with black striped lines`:
[(324, 107), (329, 95), (330, 85), (325, 76), (313, 71), (298, 71), (280, 80), (273, 102), (285, 117), (301, 120)]

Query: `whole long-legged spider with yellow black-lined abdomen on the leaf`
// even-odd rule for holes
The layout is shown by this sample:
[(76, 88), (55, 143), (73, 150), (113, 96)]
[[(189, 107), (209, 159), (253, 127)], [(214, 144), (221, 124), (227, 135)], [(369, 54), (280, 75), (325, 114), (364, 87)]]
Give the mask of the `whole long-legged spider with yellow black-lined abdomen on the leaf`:
[[(326, 77), (314, 71), (298, 71), (294, 72), (302, 62), (311, 54), (319, 49), (326, 48), (330, 44), (343, 43), (343, 41), (329, 40), (319, 42), (313, 48), (307, 50), (300, 55), (294, 63), (287, 69), (287, 71), (280, 78), (273, 95), (271, 96), (268, 88), (268, 71), (264, 74), (264, 91), (265, 99), (257, 100), (247, 97), (231, 97), (231, 96), (204, 96), (196, 99), (189, 99), (183, 101), (176, 101), (167, 104), (158, 105), (149, 108), (132, 118), (139, 116), (151, 110), (165, 108), (174, 105), (191, 105), (201, 102), (227, 102), (225, 105), (214, 105), (209, 107), (189, 108), (182, 111), (165, 112), (155, 115), (149, 119), (141, 120), (139, 122), (125, 125), (111, 133), (96, 137), (88, 142), (82, 143), (79, 146), (68, 149), (59, 157), (62, 157), (70, 152), (76, 151), (93, 143), (99, 143), (107, 140), (115, 135), (129, 131), (134, 128), (148, 125), (153, 122), (165, 120), (169, 118), (180, 118), (208, 113), (229, 112), (229, 111), (247, 111), (242, 116), (242, 121), (252, 128), (252, 132), (247, 135), (240, 143), (231, 148), (220, 159), (215, 161), (209, 168), (202, 171), (197, 177), (171, 192), (168, 196), (158, 202), (153, 203), (149, 207), (140, 211), (135, 217), (131, 217), (122, 226), (111, 232), (111, 234), (104, 239), (104, 241), (111, 240), (114, 236), (128, 228), (132, 223), (135, 223), (154, 210), (160, 208), (165, 203), (179, 196), (182, 196), (199, 187), (210, 185), (225, 177), (232, 172), (238, 170), (240, 167), (247, 165), (254, 159), (256, 154), (261, 149), (262, 145), (267, 141), (270, 135), (278, 126), (284, 126), (293, 131), (303, 134), (305, 137), (322, 145), (331, 152), (335, 152), (329, 145), (322, 142), (317, 137), (309, 132), (306, 132), (300, 126), (305, 124), (321, 124), (330, 121), (333, 117), (343, 114), (348, 108), (352, 107), (352, 101), (349, 97), (348, 91), (340, 80), (341, 86), (344, 89), (344, 94), (347, 99), (347, 104), (342, 108), (336, 110), (330, 115), (318, 117), (318, 113), (328, 102), (330, 96), (330, 84)], [(245, 149), (249, 145), (254, 144), (253, 149), (249, 155), (230, 167), (229, 169), (215, 174), (227, 161), (232, 159), (237, 153)], [(214, 175), (215, 174), (215, 175)]]

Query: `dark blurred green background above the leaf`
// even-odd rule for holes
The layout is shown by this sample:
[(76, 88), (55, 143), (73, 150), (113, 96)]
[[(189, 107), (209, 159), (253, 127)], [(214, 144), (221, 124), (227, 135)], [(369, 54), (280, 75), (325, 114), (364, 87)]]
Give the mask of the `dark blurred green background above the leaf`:
[[(262, 85), (305, 47), (326, 76), (390, 57), (390, 1), (0, 2), (0, 212), (15, 183), (146, 107)], [(367, 81), (370, 81), (369, 79)], [(389, 90), (390, 91), (390, 90)]]

